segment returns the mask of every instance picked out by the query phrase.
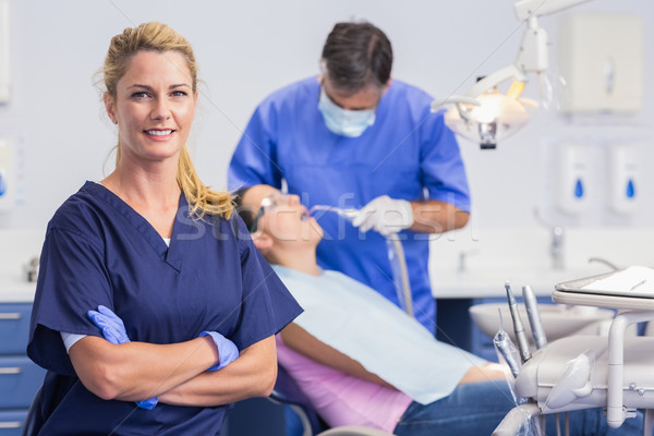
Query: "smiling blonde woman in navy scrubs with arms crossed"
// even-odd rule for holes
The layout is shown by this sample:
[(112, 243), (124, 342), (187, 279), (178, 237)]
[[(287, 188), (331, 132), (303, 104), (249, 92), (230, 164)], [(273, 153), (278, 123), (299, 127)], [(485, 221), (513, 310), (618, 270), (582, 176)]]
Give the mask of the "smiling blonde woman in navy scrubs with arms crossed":
[(301, 308), (230, 194), (193, 168), (189, 43), (128, 28), (104, 76), (116, 170), (57, 210), (43, 249), (27, 350), (48, 370), (38, 434), (216, 435), (231, 402), (269, 395), (274, 335)]

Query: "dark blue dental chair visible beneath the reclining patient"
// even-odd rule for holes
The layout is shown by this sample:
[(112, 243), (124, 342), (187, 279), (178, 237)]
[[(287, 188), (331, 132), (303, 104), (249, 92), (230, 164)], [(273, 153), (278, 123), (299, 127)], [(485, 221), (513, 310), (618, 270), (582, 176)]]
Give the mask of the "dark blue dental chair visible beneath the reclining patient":
[(277, 382), (272, 393), (268, 398), (270, 401), (287, 404), (291, 408), (300, 419), (302, 436), (392, 436), (376, 428), (361, 426), (341, 426), (327, 429), (327, 424), (312, 409), (308, 398), (300, 390), (300, 387), (281, 365), (278, 365)]

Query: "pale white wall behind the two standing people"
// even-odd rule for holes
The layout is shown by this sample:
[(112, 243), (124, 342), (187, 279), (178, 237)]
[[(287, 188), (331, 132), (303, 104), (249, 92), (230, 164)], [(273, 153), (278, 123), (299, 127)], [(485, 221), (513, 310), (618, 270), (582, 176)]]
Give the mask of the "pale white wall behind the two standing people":
[[(124, 27), (158, 20), (194, 45), (206, 84), (192, 137), (195, 162), (206, 183), (225, 187), (229, 158), (255, 105), (271, 90), (317, 72), (322, 45), (335, 22), (365, 19), (378, 25), (393, 44), (393, 76), (445, 97), (464, 93), (477, 75), (512, 61), (523, 28), (512, 4), (512, 0), (12, 0), (13, 99), (0, 106), (0, 134), (20, 140), (26, 181), (24, 204), (0, 213), (0, 228), (41, 228), (84, 180), (102, 178), (116, 133), (92, 80), (110, 37)], [(645, 40), (654, 41), (654, 2), (594, 0), (574, 11), (639, 14), (645, 22)], [(552, 60), (561, 16), (540, 21), (550, 35)], [(651, 44), (645, 66), (645, 77), (653, 77)], [(536, 97), (533, 83), (526, 94)], [(652, 100), (654, 88), (646, 83), (643, 110), (628, 119), (566, 120), (542, 110), (495, 152), (482, 152), (461, 140), (474, 225), (535, 227), (533, 209), (540, 206), (546, 219), (570, 226), (651, 226), (654, 182), (647, 174), (650, 198), (638, 216), (616, 218), (601, 211), (567, 218), (549, 213), (546, 186), (553, 175), (543, 149), (558, 137), (574, 136), (598, 147), (610, 136), (635, 137), (643, 144), (643, 167), (649, 171), (654, 162)], [(106, 173), (112, 161), (113, 156), (106, 162)]]

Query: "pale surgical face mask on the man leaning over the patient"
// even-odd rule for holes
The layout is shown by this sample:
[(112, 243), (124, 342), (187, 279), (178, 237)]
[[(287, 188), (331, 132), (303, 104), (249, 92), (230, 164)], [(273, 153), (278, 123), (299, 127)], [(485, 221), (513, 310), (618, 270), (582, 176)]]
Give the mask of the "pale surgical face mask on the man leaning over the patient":
[(337, 135), (358, 137), (375, 123), (375, 109), (343, 109), (331, 101), (323, 88), (320, 88), (318, 110), (323, 113), (323, 120), (325, 120), (327, 129)]

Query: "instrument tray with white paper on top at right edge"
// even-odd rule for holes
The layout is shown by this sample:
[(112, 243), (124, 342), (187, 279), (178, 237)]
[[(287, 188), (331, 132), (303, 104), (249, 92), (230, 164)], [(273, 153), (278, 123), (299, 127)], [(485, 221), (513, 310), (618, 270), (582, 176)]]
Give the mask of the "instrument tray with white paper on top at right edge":
[(627, 269), (565, 281), (555, 286), (552, 300), (561, 304), (654, 310), (654, 269)]

